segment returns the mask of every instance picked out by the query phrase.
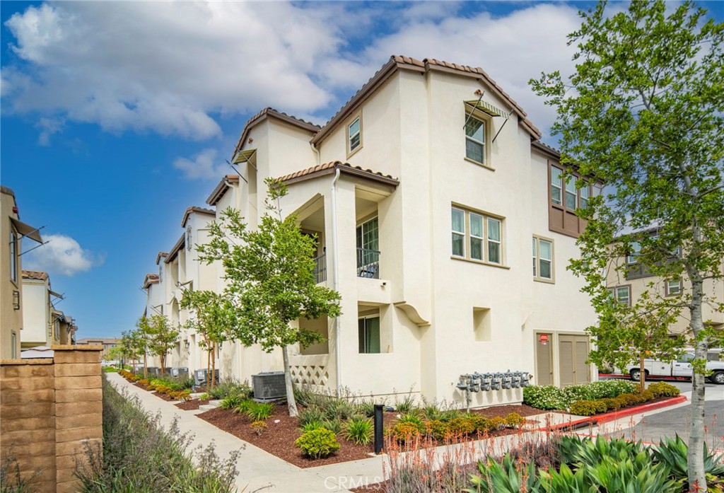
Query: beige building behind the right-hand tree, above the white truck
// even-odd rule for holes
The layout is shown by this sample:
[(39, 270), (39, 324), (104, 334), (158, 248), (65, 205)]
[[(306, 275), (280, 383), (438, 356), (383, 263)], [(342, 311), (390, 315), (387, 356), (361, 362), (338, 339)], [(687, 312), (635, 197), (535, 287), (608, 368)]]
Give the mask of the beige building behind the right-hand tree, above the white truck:
[[(654, 231), (652, 230), (652, 234)], [(639, 261), (639, 249), (636, 245), (638, 244), (634, 244), (634, 251), (631, 254), (615, 258), (607, 271), (607, 287), (615, 300), (631, 306), (636, 300), (641, 299), (644, 292), (648, 292), (650, 298), (656, 296), (666, 298), (691, 290), (691, 282), (686, 276), (680, 279), (662, 279), (651, 274)], [(724, 272), (724, 258), (720, 269)], [(702, 305), (704, 323), (715, 329), (724, 330), (724, 313), (715, 309), (715, 303), (724, 303), (724, 280), (706, 279), (704, 293), (709, 297), (708, 301), (713, 302)], [(685, 308), (678, 321), (670, 327), (670, 332), (684, 334), (688, 331), (689, 313)]]

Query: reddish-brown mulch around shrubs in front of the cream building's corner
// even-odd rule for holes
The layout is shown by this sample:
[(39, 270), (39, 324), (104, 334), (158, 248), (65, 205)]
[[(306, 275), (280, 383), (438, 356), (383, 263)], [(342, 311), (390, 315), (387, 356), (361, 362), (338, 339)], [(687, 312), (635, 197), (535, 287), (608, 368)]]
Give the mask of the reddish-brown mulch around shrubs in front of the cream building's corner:
[[(510, 413), (518, 413), (521, 416), (531, 416), (533, 414), (541, 413), (540, 410), (531, 408), (529, 405), (501, 405), (494, 408), (476, 409), (472, 410), (473, 413), (479, 413), (481, 416), (492, 418), (493, 416), (508, 416)], [(397, 419), (397, 412), (384, 413), (384, 427), (391, 426)], [(328, 465), (340, 462), (347, 462), (349, 460), (359, 460), (369, 458), (370, 454), (374, 452), (374, 444), (368, 446), (355, 445), (352, 442), (348, 442), (340, 437), (340, 450), (337, 450), (334, 454), (324, 459), (310, 459), (306, 458), (301, 450), (294, 444), (295, 439), (300, 436), (299, 421), (297, 418), (290, 418), (287, 413), (286, 405), (277, 405), (274, 407), (274, 413), (266, 423), (269, 427), (264, 433), (259, 436), (256, 431), (251, 429), (251, 420), (247, 416), (243, 416), (234, 413), (232, 410), (223, 410), (220, 408), (206, 411), (197, 415), (199, 418), (209, 421), (219, 429), (227, 431), (228, 433), (243, 439), (245, 442), (249, 442), (256, 447), (259, 447), (272, 455), (276, 455), (279, 458), (286, 460), (289, 463), (297, 465), (300, 468), (316, 467), (318, 465)], [(274, 421), (279, 420), (278, 423)], [(490, 437), (497, 437), (505, 434), (515, 434), (518, 430), (516, 429), (504, 429), (500, 431), (493, 431), (489, 434)], [(361, 490), (368, 491), (368, 490)], [(370, 490), (374, 491), (374, 490)], [(382, 491), (382, 490), (379, 490)]]

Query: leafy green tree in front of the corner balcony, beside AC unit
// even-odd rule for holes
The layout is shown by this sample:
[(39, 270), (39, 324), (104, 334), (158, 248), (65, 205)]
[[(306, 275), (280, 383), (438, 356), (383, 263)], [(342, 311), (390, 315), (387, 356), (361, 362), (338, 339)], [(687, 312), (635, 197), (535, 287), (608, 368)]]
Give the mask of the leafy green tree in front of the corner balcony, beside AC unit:
[(279, 199), (287, 187), (266, 180), (269, 193), (266, 212), (258, 229), (251, 231), (238, 211), (222, 213), (222, 221), (211, 225), (211, 240), (199, 245), (200, 258), (209, 263), (220, 260), (227, 285), (224, 295), (232, 304), (233, 336), (244, 345), (260, 344), (267, 352), (282, 349), (290, 416), (297, 415), (288, 346), (306, 347), (323, 340), (319, 332), (290, 326), (304, 317), (340, 315), (340, 295), (316, 285), (314, 241), (303, 235), (298, 217), (282, 218)]

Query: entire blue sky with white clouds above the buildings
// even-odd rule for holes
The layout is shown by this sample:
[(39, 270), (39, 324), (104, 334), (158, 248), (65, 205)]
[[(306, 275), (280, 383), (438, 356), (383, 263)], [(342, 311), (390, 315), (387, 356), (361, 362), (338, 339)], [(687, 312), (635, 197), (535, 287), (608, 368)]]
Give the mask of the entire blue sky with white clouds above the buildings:
[[(724, 19), (724, 3), (702, 5)], [(251, 115), (323, 124), (403, 54), (483, 67), (547, 133), (526, 82), (571, 70), (565, 35), (589, 6), (2, 1), (0, 179), (51, 238), (23, 268), (49, 272), (78, 337), (117, 336)]]

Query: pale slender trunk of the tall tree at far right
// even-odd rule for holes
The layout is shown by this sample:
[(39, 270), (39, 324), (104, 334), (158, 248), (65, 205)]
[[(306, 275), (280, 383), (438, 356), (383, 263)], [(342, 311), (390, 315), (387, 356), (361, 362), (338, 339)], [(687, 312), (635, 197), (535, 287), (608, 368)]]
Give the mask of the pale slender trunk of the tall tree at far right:
[[(704, 329), (702, 319), (702, 300), (704, 298), (703, 282), (698, 273), (691, 279), (691, 333), (696, 340), (694, 358), (696, 361), (707, 361), (707, 341), (696, 337)], [(706, 492), (707, 478), (704, 476), (704, 375), (691, 375), (691, 431), (689, 432), (689, 491)]]

